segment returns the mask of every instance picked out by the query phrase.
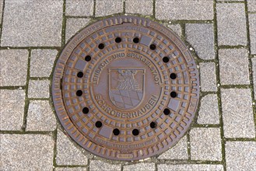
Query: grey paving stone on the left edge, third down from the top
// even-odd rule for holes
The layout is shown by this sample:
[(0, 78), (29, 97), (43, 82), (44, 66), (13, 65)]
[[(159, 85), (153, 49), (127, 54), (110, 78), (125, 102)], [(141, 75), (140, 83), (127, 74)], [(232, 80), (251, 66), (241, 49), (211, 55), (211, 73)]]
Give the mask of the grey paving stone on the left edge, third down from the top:
[(23, 127), (25, 91), (0, 89), (0, 130), (20, 131)]

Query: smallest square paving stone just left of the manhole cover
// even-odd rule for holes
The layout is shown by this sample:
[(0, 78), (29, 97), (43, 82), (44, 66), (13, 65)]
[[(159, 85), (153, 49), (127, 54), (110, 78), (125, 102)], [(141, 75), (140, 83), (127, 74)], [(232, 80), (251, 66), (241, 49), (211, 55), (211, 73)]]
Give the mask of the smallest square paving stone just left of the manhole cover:
[(30, 80), (28, 97), (29, 98), (49, 98), (50, 94), (49, 80)]

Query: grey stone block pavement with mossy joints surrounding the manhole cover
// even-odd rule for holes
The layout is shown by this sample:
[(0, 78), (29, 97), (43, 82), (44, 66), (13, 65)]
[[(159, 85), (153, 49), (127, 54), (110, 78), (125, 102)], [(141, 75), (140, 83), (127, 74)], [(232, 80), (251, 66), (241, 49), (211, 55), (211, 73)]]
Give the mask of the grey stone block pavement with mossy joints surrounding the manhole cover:
[[(254, 170), (256, 0), (0, 0), (0, 170)], [(167, 152), (102, 159), (66, 136), (51, 102), (65, 43), (107, 16), (132, 14), (174, 30), (201, 77), (194, 124)]]

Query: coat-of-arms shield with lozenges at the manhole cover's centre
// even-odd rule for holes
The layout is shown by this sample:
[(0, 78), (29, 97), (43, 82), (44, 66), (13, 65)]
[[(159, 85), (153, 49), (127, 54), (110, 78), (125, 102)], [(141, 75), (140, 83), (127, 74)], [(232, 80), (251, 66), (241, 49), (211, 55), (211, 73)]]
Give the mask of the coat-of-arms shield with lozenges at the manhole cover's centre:
[(109, 96), (114, 106), (131, 110), (142, 102), (145, 92), (144, 68), (110, 68)]

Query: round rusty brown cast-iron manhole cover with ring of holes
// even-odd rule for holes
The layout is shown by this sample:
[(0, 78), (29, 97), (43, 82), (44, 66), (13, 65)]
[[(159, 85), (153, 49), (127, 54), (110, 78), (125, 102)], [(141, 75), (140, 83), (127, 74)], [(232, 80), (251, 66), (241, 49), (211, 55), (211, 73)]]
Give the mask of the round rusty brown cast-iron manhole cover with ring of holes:
[(188, 48), (149, 19), (118, 16), (87, 26), (62, 51), (52, 96), (62, 126), (107, 159), (137, 160), (172, 147), (198, 105)]

